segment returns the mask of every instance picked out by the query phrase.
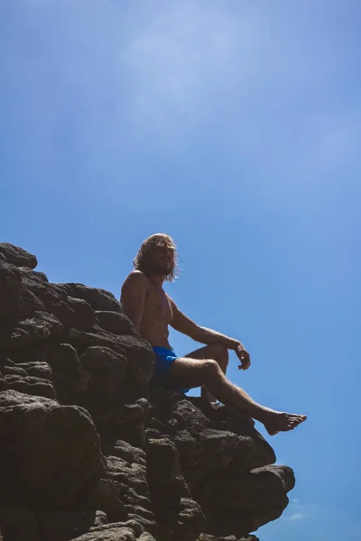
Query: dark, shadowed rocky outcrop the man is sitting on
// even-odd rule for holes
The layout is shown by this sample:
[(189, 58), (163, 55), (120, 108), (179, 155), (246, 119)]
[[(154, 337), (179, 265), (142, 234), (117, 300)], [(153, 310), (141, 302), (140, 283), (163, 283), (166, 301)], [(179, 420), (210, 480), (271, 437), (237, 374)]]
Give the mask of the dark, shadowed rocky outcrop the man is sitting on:
[(0, 541), (245, 541), (293, 472), (235, 408), (153, 385), (116, 298), (0, 243)]

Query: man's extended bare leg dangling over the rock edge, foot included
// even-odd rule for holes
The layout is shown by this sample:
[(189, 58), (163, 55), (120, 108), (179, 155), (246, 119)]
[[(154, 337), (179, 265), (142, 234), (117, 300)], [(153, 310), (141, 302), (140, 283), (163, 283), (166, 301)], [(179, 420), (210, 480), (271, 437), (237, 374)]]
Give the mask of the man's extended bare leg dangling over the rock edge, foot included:
[(274, 411), (257, 404), (244, 390), (227, 380), (216, 361), (212, 359), (195, 361), (189, 357), (180, 357), (173, 362), (170, 381), (172, 387), (179, 389), (206, 385), (219, 401), (236, 406), (245, 415), (263, 423), (270, 435), (292, 430), (306, 420), (307, 417), (304, 415)]

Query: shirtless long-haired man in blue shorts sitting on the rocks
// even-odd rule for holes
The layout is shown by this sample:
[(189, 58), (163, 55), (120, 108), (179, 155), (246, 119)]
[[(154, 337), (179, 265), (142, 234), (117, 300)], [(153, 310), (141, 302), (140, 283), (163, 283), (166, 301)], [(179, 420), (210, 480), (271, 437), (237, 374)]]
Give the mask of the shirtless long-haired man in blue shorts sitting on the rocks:
[[(121, 302), (125, 314), (133, 321), (138, 334), (153, 347), (154, 377), (174, 390), (201, 387), (203, 398), (212, 400), (216, 397), (224, 404), (236, 406), (245, 415), (261, 421), (272, 436), (300, 425), (306, 416), (264, 408), (227, 380), (228, 350), (236, 352), (241, 370), (249, 368), (249, 354), (239, 340), (198, 326), (182, 314), (165, 293), (162, 285), (165, 280), (173, 280), (176, 257), (171, 237), (153, 234), (143, 242), (134, 259), (134, 271), (122, 287)], [(185, 357), (177, 357), (168, 341), (169, 325), (207, 345)]]

